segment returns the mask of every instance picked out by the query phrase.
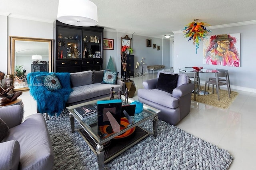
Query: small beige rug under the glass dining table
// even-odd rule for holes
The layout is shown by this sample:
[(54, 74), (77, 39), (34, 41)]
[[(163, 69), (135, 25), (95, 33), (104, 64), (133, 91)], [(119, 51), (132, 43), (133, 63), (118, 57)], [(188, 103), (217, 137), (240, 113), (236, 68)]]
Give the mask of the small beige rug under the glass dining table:
[[(215, 86), (214, 86), (215, 87)], [(201, 91), (204, 91), (204, 86), (201, 86)], [(227, 90), (220, 89), (220, 100), (218, 100), (218, 94), (216, 93), (216, 87), (214, 88), (214, 93), (212, 94), (212, 88), (208, 90), (206, 87), (206, 91), (209, 93), (208, 95), (196, 95), (196, 101), (199, 103), (205, 103), (207, 105), (212, 105), (222, 109), (228, 109), (234, 99), (236, 99), (238, 93), (231, 91), (230, 98), (228, 97)], [(191, 95), (191, 100), (194, 100), (194, 93)]]

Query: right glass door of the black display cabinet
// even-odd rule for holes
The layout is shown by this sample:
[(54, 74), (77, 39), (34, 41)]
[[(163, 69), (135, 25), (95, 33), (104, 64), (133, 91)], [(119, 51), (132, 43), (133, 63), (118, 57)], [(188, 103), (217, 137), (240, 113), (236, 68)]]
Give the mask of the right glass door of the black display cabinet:
[(102, 33), (83, 31), (82, 58), (102, 58)]

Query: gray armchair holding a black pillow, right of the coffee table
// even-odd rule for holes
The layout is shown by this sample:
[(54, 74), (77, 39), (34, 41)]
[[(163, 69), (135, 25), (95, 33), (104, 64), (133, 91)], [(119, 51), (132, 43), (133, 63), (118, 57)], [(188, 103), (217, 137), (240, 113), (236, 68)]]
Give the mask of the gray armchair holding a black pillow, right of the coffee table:
[[(176, 74), (166, 71), (159, 73)], [(159, 77), (158, 73), (158, 77)], [(177, 125), (190, 112), (191, 92), (194, 85), (188, 75), (178, 74), (176, 88), (172, 94), (156, 89), (158, 78), (143, 82), (144, 89), (138, 89), (138, 100), (146, 105), (159, 109), (158, 118)]]

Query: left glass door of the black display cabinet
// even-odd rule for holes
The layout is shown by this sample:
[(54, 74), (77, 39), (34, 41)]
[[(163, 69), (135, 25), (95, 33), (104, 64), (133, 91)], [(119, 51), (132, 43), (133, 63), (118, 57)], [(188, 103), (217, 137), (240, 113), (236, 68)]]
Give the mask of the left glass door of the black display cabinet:
[(58, 28), (58, 59), (81, 59), (81, 30)]

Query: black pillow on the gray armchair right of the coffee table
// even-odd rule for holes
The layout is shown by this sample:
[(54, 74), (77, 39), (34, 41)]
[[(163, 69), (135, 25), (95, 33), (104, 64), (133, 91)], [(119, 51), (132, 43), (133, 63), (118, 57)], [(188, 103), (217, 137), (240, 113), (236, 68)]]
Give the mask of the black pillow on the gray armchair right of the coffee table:
[(156, 84), (156, 89), (166, 91), (172, 94), (173, 89), (177, 86), (178, 74), (160, 73)]

